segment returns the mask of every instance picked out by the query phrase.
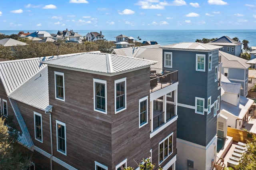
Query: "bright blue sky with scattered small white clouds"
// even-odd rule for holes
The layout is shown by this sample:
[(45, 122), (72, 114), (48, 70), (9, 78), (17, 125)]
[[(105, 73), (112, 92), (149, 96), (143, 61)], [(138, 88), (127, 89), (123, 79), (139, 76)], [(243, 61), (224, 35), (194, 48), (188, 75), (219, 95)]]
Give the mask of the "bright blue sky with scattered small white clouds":
[(0, 30), (255, 29), (256, 0), (4, 0)]

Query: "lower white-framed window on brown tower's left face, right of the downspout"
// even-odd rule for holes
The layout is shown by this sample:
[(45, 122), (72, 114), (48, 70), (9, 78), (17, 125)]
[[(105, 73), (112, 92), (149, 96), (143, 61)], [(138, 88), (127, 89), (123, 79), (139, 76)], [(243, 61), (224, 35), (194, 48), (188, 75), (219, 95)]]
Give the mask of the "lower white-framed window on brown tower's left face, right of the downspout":
[(66, 146), (66, 123), (56, 120), (57, 151), (67, 155)]

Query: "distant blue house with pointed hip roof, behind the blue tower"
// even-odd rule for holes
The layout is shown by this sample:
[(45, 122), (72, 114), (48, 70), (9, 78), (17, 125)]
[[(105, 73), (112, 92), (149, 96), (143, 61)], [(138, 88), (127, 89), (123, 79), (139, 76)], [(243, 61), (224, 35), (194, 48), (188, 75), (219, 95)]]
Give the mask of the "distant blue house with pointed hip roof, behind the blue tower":
[(220, 48), (220, 51), (224, 51), (226, 53), (239, 56), (241, 53), (243, 43), (236, 42), (228, 36), (222, 36), (221, 38), (209, 42), (208, 44), (223, 46), (222, 48)]

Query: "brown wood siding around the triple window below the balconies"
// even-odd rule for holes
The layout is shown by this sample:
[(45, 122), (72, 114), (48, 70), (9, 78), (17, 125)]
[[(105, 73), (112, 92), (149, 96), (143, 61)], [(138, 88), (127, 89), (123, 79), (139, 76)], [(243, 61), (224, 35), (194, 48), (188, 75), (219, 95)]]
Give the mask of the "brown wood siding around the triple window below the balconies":
[(152, 163), (156, 164), (155, 169), (158, 168), (159, 162), (159, 142), (166, 138), (169, 134), (173, 132), (173, 153), (160, 164), (163, 167), (167, 162), (169, 162), (176, 154), (176, 137), (177, 137), (177, 121), (166, 127), (164, 130), (156, 134), (150, 139), (152, 148)]

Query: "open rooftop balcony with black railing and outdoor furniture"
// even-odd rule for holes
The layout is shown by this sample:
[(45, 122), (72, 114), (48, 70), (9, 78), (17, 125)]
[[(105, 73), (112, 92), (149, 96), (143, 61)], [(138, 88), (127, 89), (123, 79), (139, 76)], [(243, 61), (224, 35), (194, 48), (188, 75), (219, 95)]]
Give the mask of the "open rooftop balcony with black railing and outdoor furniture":
[(178, 71), (150, 68), (150, 93), (178, 82)]

